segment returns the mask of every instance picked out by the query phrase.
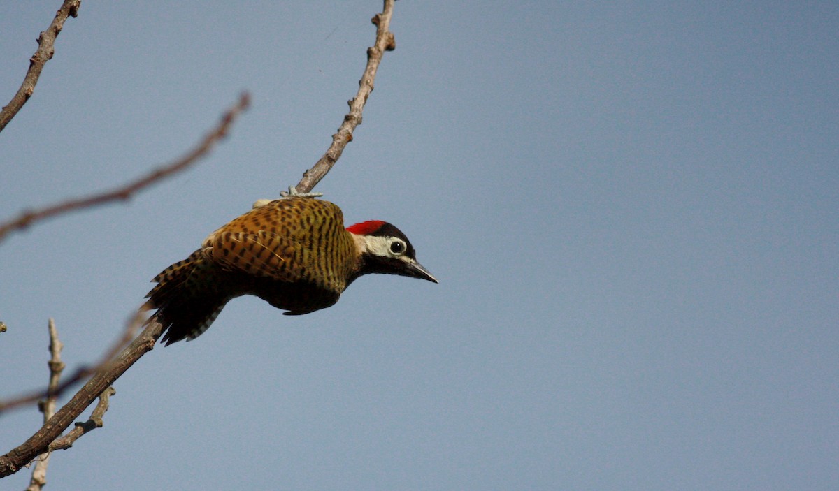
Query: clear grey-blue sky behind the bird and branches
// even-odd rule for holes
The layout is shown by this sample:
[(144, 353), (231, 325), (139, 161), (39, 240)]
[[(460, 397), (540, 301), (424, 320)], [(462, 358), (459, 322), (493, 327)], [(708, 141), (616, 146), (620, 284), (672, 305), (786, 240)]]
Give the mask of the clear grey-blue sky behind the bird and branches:
[[(3, 104), (59, 5), (0, 3)], [(46, 383), (47, 318), (70, 369), (97, 359), (152, 277), (299, 180), (380, 9), (82, 3), (0, 133), (3, 219), (253, 107), (190, 171), (0, 244), (0, 395)], [(391, 28), (316, 190), (440, 284), (231, 302), (117, 380), (48, 489), (839, 488), (837, 4), (403, 0)], [(0, 451), (39, 418), (0, 416)]]

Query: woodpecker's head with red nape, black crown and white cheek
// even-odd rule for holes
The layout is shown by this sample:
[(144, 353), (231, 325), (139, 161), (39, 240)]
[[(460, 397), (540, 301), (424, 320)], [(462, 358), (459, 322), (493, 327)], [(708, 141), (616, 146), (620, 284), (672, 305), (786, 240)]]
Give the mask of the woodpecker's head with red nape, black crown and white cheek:
[(361, 252), (360, 275), (384, 273), (437, 283), (437, 278), (417, 262), (408, 237), (388, 222), (370, 220), (349, 226), (347, 231), (355, 236)]

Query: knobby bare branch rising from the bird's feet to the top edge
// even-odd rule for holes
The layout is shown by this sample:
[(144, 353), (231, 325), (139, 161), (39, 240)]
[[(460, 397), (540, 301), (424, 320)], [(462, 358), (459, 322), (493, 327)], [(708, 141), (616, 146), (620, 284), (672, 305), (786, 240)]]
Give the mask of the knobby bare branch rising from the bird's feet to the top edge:
[(341, 153), (344, 152), (347, 143), (352, 142), (352, 132), (362, 124), (362, 111), (367, 103), (367, 97), (373, 92), (373, 81), (376, 80), (376, 72), (382, 56), (385, 51), (396, 49), (396, 40), (393, 38), (393, 33), (388, 30), (390, 18), (393, 15), (393, 2), (394, 0), (384, 0), (382, 13), (377, 13), (370, 19), (376, 25), (376, 42), (372, 47), (367, 48), (367, 66), (364, 68), (362, 79), (358, 80), (358, 92), (347, 102), (350, 111), (344, 116), (338, 132), (332, 135), (332, 144), (329, 149), (314, 167), (303, 173), (303, 178), (300, 179), (300, 183), (297, 183), (296, 189), (300, 193), (308, 193), (315, 184), (320, 182), (320, 179), (326, 176), (338, 158), (341, 158)]

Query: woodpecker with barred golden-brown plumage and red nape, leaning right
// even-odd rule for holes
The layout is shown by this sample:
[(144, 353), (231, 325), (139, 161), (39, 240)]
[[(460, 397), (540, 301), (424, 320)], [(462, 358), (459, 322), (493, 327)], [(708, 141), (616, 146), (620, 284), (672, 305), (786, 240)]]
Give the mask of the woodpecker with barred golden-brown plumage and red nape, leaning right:
[(367, 273), (437, 282), (393, 225), (370, 220), (345, 229), (336, 204), (290, 190), (284, 198), (258, 201), (154, 277), (144, 308), (157, 309), (152, 318), (163, 325), (162, 342), (197, 338), (242, 295), (300, 315), (330, 307)]

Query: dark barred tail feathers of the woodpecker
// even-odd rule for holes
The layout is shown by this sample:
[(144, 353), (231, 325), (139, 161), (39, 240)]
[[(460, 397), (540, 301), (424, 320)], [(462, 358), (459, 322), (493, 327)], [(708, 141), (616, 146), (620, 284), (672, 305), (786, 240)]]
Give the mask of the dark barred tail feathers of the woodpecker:
[(164, 328), (163, 342), (168, 346), (181, 339), (195, 339), (216, 320), (228, 300), (221, 292), (217, 272), (201, 256), (193, 252), (183, 261), (167, 267), (154, 277), (157, 286), (146, 295), (145, 308), (157, 309), (150, 320)]

